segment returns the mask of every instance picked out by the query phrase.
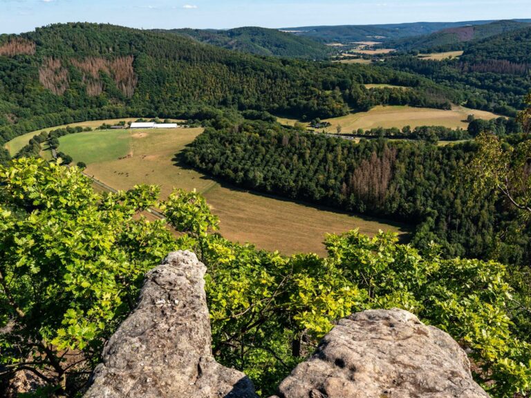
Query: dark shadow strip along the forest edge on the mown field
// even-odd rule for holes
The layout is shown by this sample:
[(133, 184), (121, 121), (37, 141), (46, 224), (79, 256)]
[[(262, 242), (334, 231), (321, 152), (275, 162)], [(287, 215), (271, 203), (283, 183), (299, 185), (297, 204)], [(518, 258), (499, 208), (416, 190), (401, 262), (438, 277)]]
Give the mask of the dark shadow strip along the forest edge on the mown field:
[(382, 224), (391, 225), (393, 227), (400, 229), (401, 234), (398, 236), (399, 243), (407, 244), (411, 240), (411, 237), (412, 237), (411, 233), (413, 232), (413, 229), (415, 227), (414, 225), (406, 224), (405, 222), (398, 222), (395, 220), (390, 220), (388, 218), (378, 218), (378, 217), (367, 216), (366, 214), (359, 214), (359, 213), (353, 213), (351, 211), (344, 211), (344, 210), (337, 209), (335, 207), (326, 206), (326, 205), (316, 205), (314, 203), (305, 202), (304, 200), (298, 200), (298, 199), (286, 198), (285, 196), (274, 195), (273, 193), (265, 193), (261, 191), (254, 191), (253, 189), (237, 187), (236, 185), (231, 184), (230, 182), (227, 182), (221, 178), (212, 176), (210, 174), (205, 174), (205, 171), (201, 169), (192, 167), (190, 164), (186, 162), (184, 154), (185, 154), (185, 149), (183, 149), (182, 151), (174, 155), (174, 158), (171, 159), (174, 162), (174, 166), (180, 167), (180, 169), (183, 169), (183, 170), (197, 171), (203, 175), (201, 179), (214, 181), (225, 189), (230, 189), (231, 191), (235, 191), (235, 192), (250, 193), (255, 196), (261, 196), (262, 198), (270, 198), (274, 200), (280, 200), (282, 202), (296, 203), (297, 205), (312, 208), (312, 209), (330, 211), (330, 212), (337, 213), (337, 214), (344, 214), (346, 216), (355, 216), (365, 221), (380, 222)]

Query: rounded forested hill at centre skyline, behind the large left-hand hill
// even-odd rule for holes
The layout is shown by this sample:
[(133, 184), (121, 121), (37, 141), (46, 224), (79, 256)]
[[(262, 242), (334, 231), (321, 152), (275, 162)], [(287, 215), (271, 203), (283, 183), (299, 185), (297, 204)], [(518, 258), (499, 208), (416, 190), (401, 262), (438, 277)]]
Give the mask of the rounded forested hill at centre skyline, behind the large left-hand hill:
[(277, 29), (245, 27), (229, 30), (173, 29), (156, 30), (196, 39), (213, 46), (256, 55), (324, 59), (330, 48), (308, 37), (295, 36)]

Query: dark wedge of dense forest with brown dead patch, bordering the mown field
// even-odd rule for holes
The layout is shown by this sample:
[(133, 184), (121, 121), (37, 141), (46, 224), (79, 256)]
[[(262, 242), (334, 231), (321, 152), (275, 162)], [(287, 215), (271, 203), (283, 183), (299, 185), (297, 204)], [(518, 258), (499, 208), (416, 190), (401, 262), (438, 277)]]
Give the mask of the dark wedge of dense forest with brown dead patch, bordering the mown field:
[[(488, 122), (483, 126), (489, 127)], [(207, 128), (184, 157), (242, 187), (410, 222), (416, 225), (418, 247), (434, 240), (447, 256), (485, 258), (496, 229), (512, 216), (492, 196), (467, 206), (469, 190), (456, 179), (475, 151), (473, 143), (356, 144), (278, 124), (243, 122), (237, 128)], [(523, 236), (523, 245), (504, 249), (500, 259), (528, 263), (530, 242)]]

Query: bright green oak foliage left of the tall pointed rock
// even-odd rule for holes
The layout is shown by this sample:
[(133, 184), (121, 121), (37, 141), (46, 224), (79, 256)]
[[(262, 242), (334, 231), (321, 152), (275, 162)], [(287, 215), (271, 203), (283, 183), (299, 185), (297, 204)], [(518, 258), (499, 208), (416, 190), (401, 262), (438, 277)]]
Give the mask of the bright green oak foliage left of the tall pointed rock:
[[(0, 181), (1, 322), (14, 323), (1, 334), (1, 361), (52, 372), (46, 381), (64, 391), (98, 360), (147, 269), (178, 243), (162, 221), (133, 217), (153, 205), (153, 187), (100, 196), (79, 169), (27, 158), (0, 169)], [(80, 366), (68, 368), (62, 350), (81, 352)]]

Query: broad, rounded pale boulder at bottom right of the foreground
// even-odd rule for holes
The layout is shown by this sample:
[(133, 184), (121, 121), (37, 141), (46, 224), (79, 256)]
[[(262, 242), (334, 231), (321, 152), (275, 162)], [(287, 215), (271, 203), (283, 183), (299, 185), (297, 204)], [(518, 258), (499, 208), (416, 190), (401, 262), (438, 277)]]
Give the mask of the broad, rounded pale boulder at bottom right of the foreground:
[[(279, 386), (282, 398), (480, 398), (465, 352), (404, 310), (342, 319)], [(273, 397), (271, 397), (273, 398)]]

